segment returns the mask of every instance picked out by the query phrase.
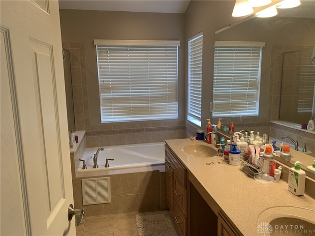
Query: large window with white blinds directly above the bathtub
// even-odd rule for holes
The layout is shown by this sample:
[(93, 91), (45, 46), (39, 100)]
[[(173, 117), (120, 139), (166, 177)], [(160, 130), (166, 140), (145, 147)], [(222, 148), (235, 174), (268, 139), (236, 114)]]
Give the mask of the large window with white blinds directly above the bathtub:
[(179, 41), (94, 40), (102, 122), (178, 118)]

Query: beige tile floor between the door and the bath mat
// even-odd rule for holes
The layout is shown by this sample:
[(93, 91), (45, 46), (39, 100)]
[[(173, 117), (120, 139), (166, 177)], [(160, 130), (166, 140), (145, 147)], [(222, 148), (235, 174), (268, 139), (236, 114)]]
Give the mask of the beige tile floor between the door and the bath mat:
[(88, 216), (76, 227), (77, 236), (137, 236), (136, 214)]

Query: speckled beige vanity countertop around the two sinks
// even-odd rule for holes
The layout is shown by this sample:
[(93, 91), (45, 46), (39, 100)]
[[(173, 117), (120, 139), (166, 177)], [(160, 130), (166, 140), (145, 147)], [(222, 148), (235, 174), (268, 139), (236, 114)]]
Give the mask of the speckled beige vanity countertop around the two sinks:
[[(287, 190), (286, 181), (263, 184), (248, 177), (240, 170), (240, 165), (219, 164), (223, 157), (193, 157), (180, 148), (186, 144), (209, 145), (203, 141), (174, 139), (165, 142), (186, 166), (188, 177), (194, 179), (191, 182), (198, 181), (199, 187), (195, 187), (206, 193), (203, 194), (204, 198), (209, 198), (206, 202), (214, 201), (217, 209), (221, 209), (244, 236), (264, 235), (266, 232), (259, 232), (257, 227), (282, 216), (313, 219), (315, 224), (315, 196), (295, 196)], [(207, 162), (215, 164), (207, 165)], [(315, 182), (310, 187), (315, 187)], [(218, 210), (214, 211), (218, 214)], [(276, 229), (273, 230), (275, 233)], [(315, 234), (315, 229), (311, 230)]]

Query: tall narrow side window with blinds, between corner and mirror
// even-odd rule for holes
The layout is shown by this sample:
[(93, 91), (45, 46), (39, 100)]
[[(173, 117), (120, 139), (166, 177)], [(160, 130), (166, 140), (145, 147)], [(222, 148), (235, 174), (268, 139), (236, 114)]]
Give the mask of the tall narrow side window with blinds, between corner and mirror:
[(188, 41), (187, 119), (201, 126), (202, 32)]

